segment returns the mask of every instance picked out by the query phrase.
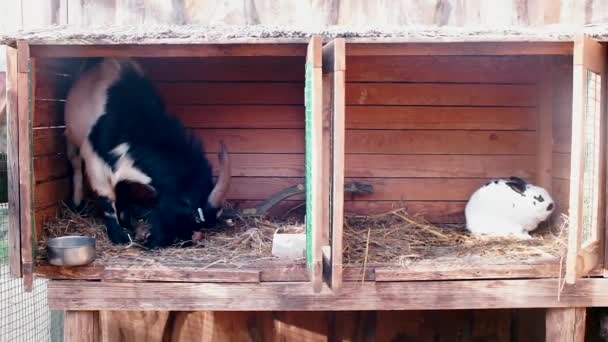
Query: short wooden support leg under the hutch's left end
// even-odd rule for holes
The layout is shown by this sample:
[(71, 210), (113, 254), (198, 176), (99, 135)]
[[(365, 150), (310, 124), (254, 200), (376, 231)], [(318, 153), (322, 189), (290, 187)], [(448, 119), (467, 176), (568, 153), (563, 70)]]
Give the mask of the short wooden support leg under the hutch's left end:
[(98, 311), (66, 311), (64, 342), (99, 342)]

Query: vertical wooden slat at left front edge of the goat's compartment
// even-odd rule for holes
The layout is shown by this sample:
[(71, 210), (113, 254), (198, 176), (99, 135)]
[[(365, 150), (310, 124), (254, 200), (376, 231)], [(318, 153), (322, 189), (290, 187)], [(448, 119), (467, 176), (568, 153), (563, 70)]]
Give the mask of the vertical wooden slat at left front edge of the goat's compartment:
[(18, 60), (18, 106), (19, 106), (19, 194), (21, 215), (21, 263), (23, 282), (26, 291), (32, 290), (34, 250), (33, 188), (32, 188), (32, 139), (31, 109), (33, 79), (30, 72), (29, 45), (17, 42)]

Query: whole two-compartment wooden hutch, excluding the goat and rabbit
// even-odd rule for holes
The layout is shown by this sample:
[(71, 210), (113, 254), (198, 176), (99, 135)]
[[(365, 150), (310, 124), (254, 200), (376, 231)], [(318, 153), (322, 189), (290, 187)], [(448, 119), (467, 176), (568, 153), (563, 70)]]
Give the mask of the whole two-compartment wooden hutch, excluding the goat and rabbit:
[[(34, 274), (50, 278), (52, 308), (565, 307), (570, 315), (578, 312), (574, 307), (608, 305), (608, 282), (601, 277), (604, 43), (574, 34), (488, 38), (476, 32), (323, 40), (287, 32), (186, 43), (181, 33), (166, 40), (107, 40), (95, 33), (73, 41), (69, 34), (55, 37), (62, 32), (18, 38), (8, 65), (11, 269), (26, 284)], [(137, 58), (172, 112), (201, 132), (212, 162), (218, 140), (226, 142), (235, 177), (229, 202), (247, 208), (305, 184), (310, 257), (242, 267), (119, 258), (73, 268), (38, 258), (45, 223), (70, 195), (62, 152), (65, 92), (75, 65), (101, 56)], [(387, 223), (369, 224), (379, 217), (374, 215), (403, 208), (393, 219), (418, 222), (410, 233), (452, 234), (464, 223), (470, 194), (492, 178), (509, 176), (549, 190), (557, 204), (550, 226), (568, 218), (560, 255), (514, 251), (496, 258), (469, 251), (462, 258), (404, 255), (405, 262), (374, 257), (397, 247), (375, 243)], [(373, 192), (347, 192), (353, 182), (368, 183)], [(281, 202), (278, 212), (304, 198)], [(353, 220), (366, 225), (355, 227)], [(360, 235), (353, 240), (355, 228)], [(410, 233), (398, 231), (396, 237), (409, 239)], [(458, 248), (478, 246), (466, 238), (450, 241)], [(353, 248), (361, 260), (353, 261)], [(568, 284), (559, 292), (562, 278)]]

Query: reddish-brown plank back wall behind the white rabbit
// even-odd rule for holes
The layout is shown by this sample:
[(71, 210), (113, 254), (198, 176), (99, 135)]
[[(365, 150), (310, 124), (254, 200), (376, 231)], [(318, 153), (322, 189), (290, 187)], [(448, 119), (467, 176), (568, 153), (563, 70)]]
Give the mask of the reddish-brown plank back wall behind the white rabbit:
[[(348, 46), (347, 46), (348, 49)], [(491, 178), (536, 174), (538, 56), (348, 56), (346, 177), (374, 194), (347, 212), (405, 206), (462, 222)]]

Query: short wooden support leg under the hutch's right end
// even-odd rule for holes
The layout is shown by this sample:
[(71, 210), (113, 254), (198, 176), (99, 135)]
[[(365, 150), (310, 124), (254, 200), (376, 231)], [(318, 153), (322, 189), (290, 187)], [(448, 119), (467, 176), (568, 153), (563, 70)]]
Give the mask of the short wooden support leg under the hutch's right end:
[(545, 316), (545, 341), (585, 341), (586, 308), (547, 309)]

